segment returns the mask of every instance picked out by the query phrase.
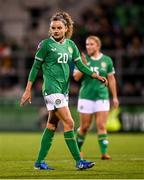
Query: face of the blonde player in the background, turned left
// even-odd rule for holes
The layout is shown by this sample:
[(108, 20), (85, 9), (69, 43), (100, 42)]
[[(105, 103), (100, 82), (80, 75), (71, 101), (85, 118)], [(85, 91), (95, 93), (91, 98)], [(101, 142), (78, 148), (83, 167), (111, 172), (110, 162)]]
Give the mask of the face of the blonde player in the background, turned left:
[(89, 56), (93, 56), (95, 53), (99, 52), (99, 45), (98, 43), (93, 39), (87, 39), (86, 40), (86, 50)]

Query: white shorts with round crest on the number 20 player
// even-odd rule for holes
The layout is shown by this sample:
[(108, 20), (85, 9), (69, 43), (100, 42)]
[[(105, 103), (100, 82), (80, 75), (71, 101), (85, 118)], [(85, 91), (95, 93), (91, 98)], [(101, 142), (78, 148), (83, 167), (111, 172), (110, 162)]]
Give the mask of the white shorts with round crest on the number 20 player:
[(48, 96), (44, 96), (44, 100), (48, 111), (68, 106), (67, 94), (50, 94)]

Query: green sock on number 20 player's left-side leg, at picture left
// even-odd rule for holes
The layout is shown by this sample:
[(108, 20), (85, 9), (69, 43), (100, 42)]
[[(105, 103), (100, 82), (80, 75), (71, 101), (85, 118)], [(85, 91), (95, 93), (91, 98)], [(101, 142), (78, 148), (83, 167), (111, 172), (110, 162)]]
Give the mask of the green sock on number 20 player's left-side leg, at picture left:
[(42, 135), (42, 139), (41, 139), (40, 150), (38, 153), (38, 158), (37, 158), (38, 163), (41, 163), (44, 161), (44, 159), (51, 147), (53, 136), (54, 136), (54, 131), (52, 131), (48, 128), (45, 128), (43, 135)]

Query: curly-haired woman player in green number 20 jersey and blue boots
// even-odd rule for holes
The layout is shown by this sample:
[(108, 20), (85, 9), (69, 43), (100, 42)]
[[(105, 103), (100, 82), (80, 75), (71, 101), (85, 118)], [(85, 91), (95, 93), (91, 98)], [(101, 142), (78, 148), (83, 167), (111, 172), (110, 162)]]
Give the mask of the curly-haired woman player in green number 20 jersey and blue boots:
[[(35, 61), (31, 68), (25, 92), (21, 98), (20, 105), (25, 102), (31, 103), (32, 84), (42, 68), (43, 73), (43, 95), (49, 112), (49, 119), (44, 130), (41, 146), (34, 167), (36, 169), (53, 170), (45, 163), (45, 157), (51, 147), (54, 132), (58, 121), (64, 126), (64, 138), (66, 144), (76, 161), (77, 169), (87, 169), (94, 166), (94, 162), (85, 161), (80, 157), (80, 152), (74, 137), (74, 121), (68, 108), (69, 88), (69, 64), (71, 61), (88, 76), (103, 81), (107, 80), (92, 72), (85, 66), (80, 53), (70, 40), (73, 32), (73, 21), (69, 14), (58, 12), (50, 20), (49, 38), (43, 40), (35, 55)], [(54, 118), (58, 117), (58, 118)]]

